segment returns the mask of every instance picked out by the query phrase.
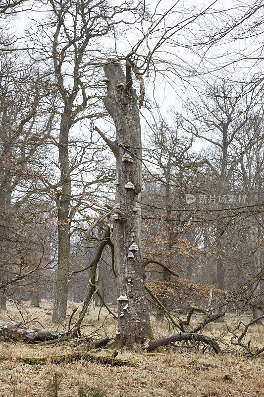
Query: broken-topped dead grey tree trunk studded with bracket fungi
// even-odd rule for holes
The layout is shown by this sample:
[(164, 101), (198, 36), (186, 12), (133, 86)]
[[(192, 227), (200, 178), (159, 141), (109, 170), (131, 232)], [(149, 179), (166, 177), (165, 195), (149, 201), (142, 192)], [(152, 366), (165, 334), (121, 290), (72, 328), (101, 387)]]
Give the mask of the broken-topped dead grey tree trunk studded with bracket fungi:
[[(116, 185), (115, 202), (120, 203), (120, 211), (123, 214), (119, 219), (113, 220), (117, 291), (119, 296), (125, 295), (127, 298), (118, 300), (115, 346), (120, 348), (124, 345), (131, 347), (134, 343), (143, 343), (152, 337), (144, 285), (141, 217), (140, 211), (133, 211), (133, 207), (141, 199), (142, 171), (141, 161), (138, 159), (141, 158), (141, 127), (137, 95), (131, 87), (132, 77), (130, 75), (129, 78), (128, 63), (126, 68), (126, 87), (118, 88), (117, 84), (126, 83), (122, 67), (114, 63), (104, 67), (109, 79), (104, 104), (116, 128), (116, 141), (110, 144), (116, 157), (116, 178), (119, 180), (119, 184)], [(122, 161), (125, 153), (132, 156), (133, 162)], [(128, 182), (132, 183), (135, 189), (126, 189), (125, 185)], [(138, 246), (138, 250), (132, 251), (134, 258), (128, 258), (129, 246), (132, 243)]]

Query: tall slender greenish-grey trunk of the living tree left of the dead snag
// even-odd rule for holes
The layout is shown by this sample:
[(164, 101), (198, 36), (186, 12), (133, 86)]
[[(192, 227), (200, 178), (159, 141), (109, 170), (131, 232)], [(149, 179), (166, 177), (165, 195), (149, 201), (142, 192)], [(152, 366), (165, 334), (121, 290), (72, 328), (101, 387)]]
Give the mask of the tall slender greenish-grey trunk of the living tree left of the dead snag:
[(71, 177), (68, 159), (68, 135), (70, 109), (72, 104), (66, 104), (61, 118), (59, 134), (59, 166), (61, 192), (57, 193), (58, 209), (58, 269), (53, 308), (53, 322), (65, 319), (68, 298), (68, 276), (70, 263), (70, 195)]

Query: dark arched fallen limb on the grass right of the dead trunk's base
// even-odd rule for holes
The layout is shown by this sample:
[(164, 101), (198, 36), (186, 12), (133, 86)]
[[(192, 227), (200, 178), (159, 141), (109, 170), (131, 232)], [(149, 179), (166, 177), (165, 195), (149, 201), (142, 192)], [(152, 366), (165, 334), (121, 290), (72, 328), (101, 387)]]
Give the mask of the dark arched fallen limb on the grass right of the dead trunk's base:
[(179, 342), (179, 341), (197, 341), (197, 342), (203, 342), (211, 346), (213, 351), (215, 353), (220, 353), (221, 349), (218, 345), (218, 343), (214, 340), (211, 339), (210, 337), (206, 335), (201, 335), (198, 333), (192, 333), (192, 332), (180, 332), (180, 333), (174, 333), (172, 335), (168, 336), (162, 336), (161, 338), (158, 339), (153, 339), (150, 340), (148, 339), (144, 344), (143, 344), (143, 350), (145, 351), (154, 351), (160, 346), (166, 346), (170, 343), (173, 342)]

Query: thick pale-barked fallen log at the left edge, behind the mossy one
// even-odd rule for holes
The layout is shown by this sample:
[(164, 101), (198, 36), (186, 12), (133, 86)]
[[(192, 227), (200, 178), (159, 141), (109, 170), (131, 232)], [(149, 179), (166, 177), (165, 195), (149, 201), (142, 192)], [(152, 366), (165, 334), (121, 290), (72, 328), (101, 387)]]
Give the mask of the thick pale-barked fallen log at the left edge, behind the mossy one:
[(21, 323), (14, 321), (0, 321), (0, 337), (16, 341), (44, 341), (59, 338), (66, 334), (65, 330), (35, 329), (30, 330)]

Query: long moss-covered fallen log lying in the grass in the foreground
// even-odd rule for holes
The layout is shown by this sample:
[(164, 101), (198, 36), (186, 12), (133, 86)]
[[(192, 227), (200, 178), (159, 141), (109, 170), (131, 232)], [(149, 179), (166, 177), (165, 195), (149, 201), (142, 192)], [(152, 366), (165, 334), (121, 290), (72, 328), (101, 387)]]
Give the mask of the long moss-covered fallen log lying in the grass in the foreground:
[[(0, 356), (0, 361), (9, 360), (11, 357)], [(96, 354), (88, 353), (87, 351), (71, 351), (64, 354), (54, 354), (51, 356), (44, 357), (12, 357), (18, 361), (22, 361), (27, 364), (45, 364), (46, 362), (52, 362), (55, 364), (60, 363), (71, 363), (73, 361), (85, 360), (91, 361), (96, 364), (108, 364), (112, 366), (128, 366), (135, 367), (139, 364), (139, 361), (133, 360), (122, 360), (120, 358), (114, 358), (113, 356), (99, 356)]]

